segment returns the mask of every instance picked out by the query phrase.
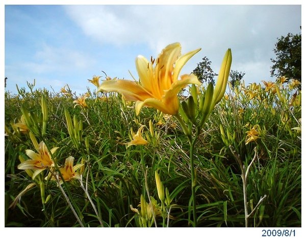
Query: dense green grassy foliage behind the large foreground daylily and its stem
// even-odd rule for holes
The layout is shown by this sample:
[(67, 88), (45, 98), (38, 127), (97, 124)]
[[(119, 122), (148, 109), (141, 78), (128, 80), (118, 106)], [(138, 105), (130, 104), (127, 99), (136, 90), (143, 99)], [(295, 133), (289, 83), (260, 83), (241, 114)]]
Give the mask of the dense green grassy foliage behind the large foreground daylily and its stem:
[[(134, 103), (116, 93), (89, 91), (80, 96), (86, 105), (77, 105), (76, 95), (30, 86), (30, 92), (5, 93), (6, 227), (192, 225), (189, 144), (174, 117), (152, 108), (136, 116)], [(207, 87), (196, 90), (203, 93)], [(48, 112), (45, 135), (43, 98)], [(16, 126), (22, 108), (37, 132)], [(300, 119), (301, 91), (291, 82), (245, 86), (242, 81), (230, 88), (194, 148), (199, 227), (244, 226), (242, 172), (236, 157), (247, 166), (254, 148), (258, 155), (246, 187), (249, 211), (266, 198), (250, 216), (249, 226), (301, 226)], [(148, 144), (129, 146), (140, 128)], [(27, 150), (36, 151), (33, 135), (49, 149), (59, 147), (54, 154), (58, 168), (69, 156), (74, 165), (84, 163), (77, 171), (85, 190), (78, 179), (61, 184), (80, 222), (57, 182), (46, 178), (48, 170), (32, 179), (30, 171), (17, 169), (20, 160), (28, 158)]]

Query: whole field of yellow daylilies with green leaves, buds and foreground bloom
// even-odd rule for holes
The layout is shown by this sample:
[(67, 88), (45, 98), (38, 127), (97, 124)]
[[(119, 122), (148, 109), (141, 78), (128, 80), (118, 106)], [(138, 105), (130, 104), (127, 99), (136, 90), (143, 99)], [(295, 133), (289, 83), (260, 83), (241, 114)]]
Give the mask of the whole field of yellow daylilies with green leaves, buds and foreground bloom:
[(201, 84), (181, 73), (198, 51), (83, 95), (6, 92), (5, 226), (300, 227), (300, 83), (231, 85), (228, 49)]

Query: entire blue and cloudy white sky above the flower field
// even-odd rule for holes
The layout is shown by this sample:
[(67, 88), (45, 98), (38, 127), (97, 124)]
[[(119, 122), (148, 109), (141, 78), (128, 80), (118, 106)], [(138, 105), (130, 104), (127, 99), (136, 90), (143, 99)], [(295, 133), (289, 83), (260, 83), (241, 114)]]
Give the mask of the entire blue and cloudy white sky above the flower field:
[(183, 54), (201, 48), (181, 74), (205, 56), (218, 73), (231, 48), (232, 69), (244, 71), (246, 83), (274, 81), (274, 44), (300, 26), (300, 5), (6, 5), (6, 90), (36, 79), (37, 88), (68, 84), (83, 93), (94, 89), (87, 79), (105, 77), (101, 70), (132, 79), (130, 70), (138, 79), (137, 55), (156, 58), (173, 42)]

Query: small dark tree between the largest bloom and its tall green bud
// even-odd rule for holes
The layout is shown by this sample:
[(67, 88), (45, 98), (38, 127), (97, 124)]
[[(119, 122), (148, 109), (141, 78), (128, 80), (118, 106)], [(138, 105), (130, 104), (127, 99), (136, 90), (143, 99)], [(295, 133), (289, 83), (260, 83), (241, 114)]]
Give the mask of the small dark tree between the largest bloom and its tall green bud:
[(212, 63), (207, 57), (202, 58), (202, 62), (197, 63), (197, 67), (192, 71), (194, 75), (197, 76), (200, 82), (212, 82), (215, 84), (214, 77), (218, 74), (214, 73), (210, 64)]

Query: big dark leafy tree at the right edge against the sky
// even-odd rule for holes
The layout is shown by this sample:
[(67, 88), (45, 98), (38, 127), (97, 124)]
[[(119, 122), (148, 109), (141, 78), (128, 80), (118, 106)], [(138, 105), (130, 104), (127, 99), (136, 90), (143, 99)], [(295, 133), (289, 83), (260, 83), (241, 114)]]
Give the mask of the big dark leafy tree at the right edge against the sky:
[(301, 33), (296, 35), (288, 33), (286, 37), (277, 39), (273, 50), (276, 59), (271, 58), (273, 63), (271, 76), (285, 76), (301, 82)]

